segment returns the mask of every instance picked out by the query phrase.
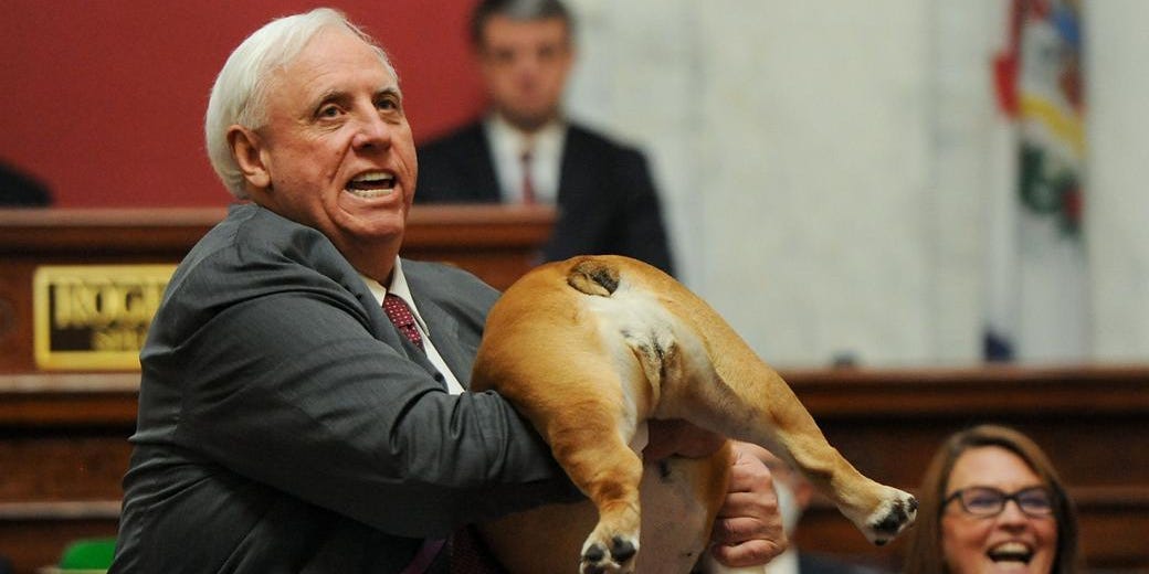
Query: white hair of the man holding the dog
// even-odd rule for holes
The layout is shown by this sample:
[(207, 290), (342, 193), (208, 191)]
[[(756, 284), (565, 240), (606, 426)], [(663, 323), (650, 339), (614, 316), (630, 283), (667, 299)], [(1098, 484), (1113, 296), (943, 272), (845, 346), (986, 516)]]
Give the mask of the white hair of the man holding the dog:
[(371, 46), (398, 80), (386, 52), (332, 8), (277, 18), (248, 36), (219, 70), (203, 121), (211, 168), (236, 199), (247, 199), (246, 179), (228, 142), (228, 130), (237, 124), (249, 130), (263, 127), (268, 121), (267, 92), (271, 73), (291, 64), (311, 38), (331, 29), (350, 32)]

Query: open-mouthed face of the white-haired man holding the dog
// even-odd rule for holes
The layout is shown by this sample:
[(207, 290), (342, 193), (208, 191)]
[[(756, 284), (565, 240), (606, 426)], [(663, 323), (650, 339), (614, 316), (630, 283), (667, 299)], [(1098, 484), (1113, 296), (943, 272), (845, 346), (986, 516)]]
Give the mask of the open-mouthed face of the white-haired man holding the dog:
[(321, 32), (275, 72), (265, 103), (267, 125), (252, 138), (252, 197), (322, 231), (345, 255), (398, 249), (418, 166), (399, 84), (375, 51), (350, 33)]

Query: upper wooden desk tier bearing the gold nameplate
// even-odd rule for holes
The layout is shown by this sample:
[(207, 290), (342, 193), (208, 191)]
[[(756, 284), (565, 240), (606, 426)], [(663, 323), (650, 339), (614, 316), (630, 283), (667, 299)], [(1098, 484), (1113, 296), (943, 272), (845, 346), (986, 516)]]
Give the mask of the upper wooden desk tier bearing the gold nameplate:
[[(224, 209), (0, 209), (0, 373), (37, 370), (32, 277), (40, 265), (179, 263)], [(538, 263), (554, 210), (419, 205), (402, 255), (458, 265), (499, 289)]]

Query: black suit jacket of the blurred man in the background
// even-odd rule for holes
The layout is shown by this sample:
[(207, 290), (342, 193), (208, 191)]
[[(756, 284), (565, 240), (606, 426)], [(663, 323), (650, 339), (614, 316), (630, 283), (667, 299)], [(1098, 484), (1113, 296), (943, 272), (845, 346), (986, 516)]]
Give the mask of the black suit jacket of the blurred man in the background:
[[(419, 146), (415, 202), (499, 202), (492, 157), (481, 123)], [(662, 207), (641, 152), (571, 124), (558, 179), (558, 220), (543, 259), (626, 255), (673, 273)]]

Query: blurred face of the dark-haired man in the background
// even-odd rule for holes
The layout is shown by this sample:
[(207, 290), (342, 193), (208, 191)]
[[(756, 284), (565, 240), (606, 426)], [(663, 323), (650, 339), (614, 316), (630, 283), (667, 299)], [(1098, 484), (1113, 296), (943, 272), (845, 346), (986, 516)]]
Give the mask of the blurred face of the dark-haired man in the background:
[(562, 18), (495, 15), (483, 26), (479, 64), (487, 95), (518, 129), (533, 131), (557, 116), (573, 61), (568, 33)]

